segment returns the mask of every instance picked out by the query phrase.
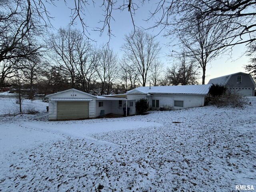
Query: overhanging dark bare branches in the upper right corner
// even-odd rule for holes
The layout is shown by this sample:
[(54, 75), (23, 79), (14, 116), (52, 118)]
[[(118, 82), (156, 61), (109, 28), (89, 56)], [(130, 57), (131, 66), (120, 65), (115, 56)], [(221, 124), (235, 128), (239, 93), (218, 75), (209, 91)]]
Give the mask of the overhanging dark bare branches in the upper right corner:
[(253, 36), (256, 31), (255, 6), (256, 2), (251, 0), (163, 0), (157, 2), (148, 20), (155, 20), (152, 28), (161, 28), (172, 36), (210, 18), (215, 22), (208, 25), (225, 26), (226, 29), (226, 36), (216, 40), (218, 46), (214, 50), (218, 50), (256, 40)]

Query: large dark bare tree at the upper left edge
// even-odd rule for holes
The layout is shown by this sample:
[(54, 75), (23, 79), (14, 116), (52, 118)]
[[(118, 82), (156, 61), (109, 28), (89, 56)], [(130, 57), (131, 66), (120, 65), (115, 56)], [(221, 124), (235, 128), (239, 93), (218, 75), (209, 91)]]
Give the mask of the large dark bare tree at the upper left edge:
[(11, 78), (20, 59), (43, 51), (44, 28), (27, 1), (0, 2), (0, 87)]

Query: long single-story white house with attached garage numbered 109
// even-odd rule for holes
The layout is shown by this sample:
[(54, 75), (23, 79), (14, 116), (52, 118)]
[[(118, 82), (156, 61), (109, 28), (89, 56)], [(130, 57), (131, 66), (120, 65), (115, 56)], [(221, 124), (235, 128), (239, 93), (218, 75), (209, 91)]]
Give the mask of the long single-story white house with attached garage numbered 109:
[[(151, 86), (138, 87), (125, 94), (94, 96), (76, 89), (50, 94), (49, 120), (96, 118), (104, 110), (105, 114), (136, 114), (135, 102), (145, 98), (151, 109), (160, 107), (184, 109), (204, 106), (208, 96), (208, 85)], [(129, 109), (129, 111), (128, 111)], [(125, 114), (127, 115), (127, 114)]]

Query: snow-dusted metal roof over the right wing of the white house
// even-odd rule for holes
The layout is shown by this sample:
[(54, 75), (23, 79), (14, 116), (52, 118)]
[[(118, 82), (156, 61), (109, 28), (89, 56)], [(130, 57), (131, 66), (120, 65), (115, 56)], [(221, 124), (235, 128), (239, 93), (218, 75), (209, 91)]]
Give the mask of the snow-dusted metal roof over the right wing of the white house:
[[(148, 93), (162, 93), (162, 94), (208, 94), (210, 84), (206, 85), (178, 85), (178, 86), (151, 86), (138, 87), (134, 90), (148, 94)], [(131, 94), (134, 90), (130, 90), (127, 94)]]

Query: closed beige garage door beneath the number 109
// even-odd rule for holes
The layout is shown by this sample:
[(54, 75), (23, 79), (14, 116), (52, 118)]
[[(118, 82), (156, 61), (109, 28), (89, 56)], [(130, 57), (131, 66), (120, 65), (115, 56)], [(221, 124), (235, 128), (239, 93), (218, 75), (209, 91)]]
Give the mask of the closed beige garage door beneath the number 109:
[(57, 120), (89, 118), (89, 102), (57, 102)]

